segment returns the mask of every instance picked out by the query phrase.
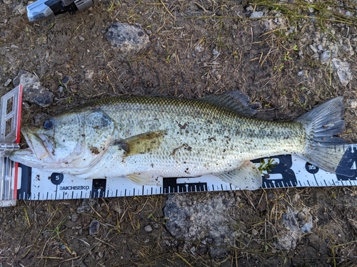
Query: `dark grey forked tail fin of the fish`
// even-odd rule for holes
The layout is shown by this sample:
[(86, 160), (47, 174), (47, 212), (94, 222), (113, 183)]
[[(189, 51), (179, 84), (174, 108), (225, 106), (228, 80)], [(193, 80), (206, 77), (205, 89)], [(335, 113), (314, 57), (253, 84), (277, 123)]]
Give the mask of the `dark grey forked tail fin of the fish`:
[(326, 171), (352, 177), (354, 172), (349, 166), (352, 157), (346, 152), (348, 145), (342, 138), (334, 136), (344, 132), (343, 112), (343, 98), (333, 98), (298, 117), (296, 122), (306, 130), (303, 159)]

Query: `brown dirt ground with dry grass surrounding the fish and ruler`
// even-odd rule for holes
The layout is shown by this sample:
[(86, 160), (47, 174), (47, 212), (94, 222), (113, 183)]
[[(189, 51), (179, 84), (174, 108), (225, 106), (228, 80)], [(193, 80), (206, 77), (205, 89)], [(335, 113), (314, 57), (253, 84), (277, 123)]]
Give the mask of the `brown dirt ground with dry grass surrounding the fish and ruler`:
[[(13, 88), (5, 84), (19, 70), (37, 75), (54, 94), (48, 108), (24, 103), (23, 125), (35, 115), (54, 115), (96, 98), (199, 98), (238, 89), (261, 105), (256, 117), (266, 120), (293, 120), (341, 95), (346, 103), (341, 137), (357, 142), (356, 1), (103, 0), (81, 14), (37, 23), (27, 20), (27, 1), (0, 3), (0, 94)], [(105, 38), (114, 22), (143, 28), (149, 46), (126, 55), (118, 51)], [(326, 51), (333, 56), (323, 61)], [(344, 70), (338, 72), (332, 58)], [(343, 71), (347, 81), (338, 76)], [(66, 78), (69, 86), (61, 88)], [(355, 187), (261, 189), (234, 196), (241, 202), (234, 218), (238, 234), (220, 258), (205, 249), (187, 250), (187, 241), (169, 234), (166, 197), (160, 195), (19, 201), (0, 209), (0, 263), (356, 266)], [(279, 249), (273, 246), (276, 223), (288, 207), (308, 209), (315, 224), (295, 247)], [(89, 234), (94, 220), (98, 233)]]

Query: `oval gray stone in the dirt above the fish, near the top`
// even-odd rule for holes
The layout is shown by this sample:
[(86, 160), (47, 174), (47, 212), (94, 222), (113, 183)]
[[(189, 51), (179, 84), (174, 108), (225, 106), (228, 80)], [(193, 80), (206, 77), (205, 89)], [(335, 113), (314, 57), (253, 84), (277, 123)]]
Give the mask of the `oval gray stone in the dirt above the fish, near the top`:
[(111, 24), (105, 37), (122, 53), (140, 51), (150, 43), (149, 36), (142, 28), (118, 22)]

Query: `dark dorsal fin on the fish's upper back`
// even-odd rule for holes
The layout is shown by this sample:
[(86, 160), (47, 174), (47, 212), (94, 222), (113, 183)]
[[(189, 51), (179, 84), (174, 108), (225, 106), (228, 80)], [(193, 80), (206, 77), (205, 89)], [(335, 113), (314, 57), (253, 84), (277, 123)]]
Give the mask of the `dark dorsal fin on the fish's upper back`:
[(257, 105), (249, 105), (249, 98), (239, 90), (224, 93), (223, 95), (208, 95), (200, 100), (221, 105), (237, 112), (244, 117), (252, 117), (256, 114)]

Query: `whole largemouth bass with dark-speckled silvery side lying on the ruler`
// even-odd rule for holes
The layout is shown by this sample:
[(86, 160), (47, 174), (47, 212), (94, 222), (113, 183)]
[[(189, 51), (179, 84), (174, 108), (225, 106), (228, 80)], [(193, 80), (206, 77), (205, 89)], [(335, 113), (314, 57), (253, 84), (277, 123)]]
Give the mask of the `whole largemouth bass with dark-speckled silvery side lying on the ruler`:
[(29, 148), (11, 159), (81, 178), (127, 177), (139, 184), (213, 174), (241, 189), (261, 186), (250, 160), (273, 155), (296, 154), (329, 172), (353, 175), (341, 161), (346, 142), (335, 137), (344, 131), (341, 97), (293, 122), (244, 117), (227, 99), (97, 100), (39, 127), (23, 127)]

